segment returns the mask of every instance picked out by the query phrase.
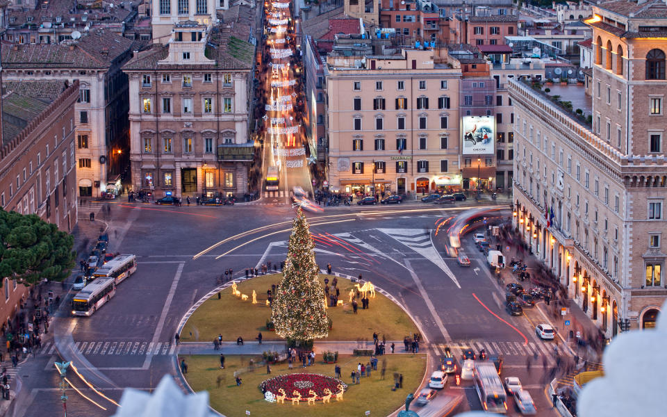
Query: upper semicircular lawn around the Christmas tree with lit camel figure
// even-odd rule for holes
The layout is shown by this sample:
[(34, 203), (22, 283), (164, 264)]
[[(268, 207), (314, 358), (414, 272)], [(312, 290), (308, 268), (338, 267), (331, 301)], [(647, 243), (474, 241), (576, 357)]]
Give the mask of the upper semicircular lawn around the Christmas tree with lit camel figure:
[[(224, 341), (236, 341), (238, 336), (246, 341), (254, 341), (258, 332), (262, 332), (265, 341), (279, 340), (275, 332), (269, 332), (265, 327), (266, 320), (271, 317), (271, 309), (265, 302), (266, 291), (271, 289), (272, 284), (278, 284), (282, 277), (282, 274), (263, 275), (240, 282), (238, 291), (248, 295), (247, 301), (232, 295), (231, 288), (222, 291), (220, 300), (217, 295), (206, 300), (186, 322), (181, 332), (181, 341), (213, 341), (218, 334), (222, 334)], [(320, 275), (322, 286), (325, 277), (330, 276)], [(384, 335), (388, 341), (402, 341), (405, 336), (418, 332), (411, 318), (384, 295), (376, 293), (375, 298), (370, 299), (368, 310), (361, 309), (359, 300), (358, 313), (354, 314), (348, 302), (349, 290), (354, 285), (347, 279), (339, 278), (338, 288), (338, 300), (343, 300), (345, 305), (327, 309), (334, 323), (333, 329), (329, 331), (329, 340), (371, 339), (373, 332), (377, 332), (380, 339)], [(257, 293), (258, 304), (252, 304), (253, 290)]]

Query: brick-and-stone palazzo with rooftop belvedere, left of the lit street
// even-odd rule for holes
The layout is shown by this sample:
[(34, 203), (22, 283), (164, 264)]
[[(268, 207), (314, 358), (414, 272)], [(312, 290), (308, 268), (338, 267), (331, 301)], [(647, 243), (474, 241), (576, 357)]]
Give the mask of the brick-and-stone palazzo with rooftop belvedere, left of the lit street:
[[(196, 3), (188, 7), (204, 4)], [(253, 19), (197, 22), (168, 6), (154, 3), (153, 10), (163, 7), (154, 19), (172, 22), (169, 38), (160, 35), (166, 26), (154, 26), (156, 43), (123, 67), (130, 84), (133, 189), (154, 190), (156, 197), (243, 195), (254, 159), (248, 130)], [(217, 5), (208, 6), (215, 17)]]

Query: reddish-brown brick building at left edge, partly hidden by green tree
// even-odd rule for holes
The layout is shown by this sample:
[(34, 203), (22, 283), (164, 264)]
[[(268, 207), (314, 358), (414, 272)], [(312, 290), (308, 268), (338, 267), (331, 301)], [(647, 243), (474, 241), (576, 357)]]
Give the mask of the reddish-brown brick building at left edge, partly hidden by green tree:
[[(74, 104), (79, 82), (3, 81), (0, 204), (72, 231), (76, 224)], [(4, 279), (0, 322), (8, 322), (28, 287)]]

